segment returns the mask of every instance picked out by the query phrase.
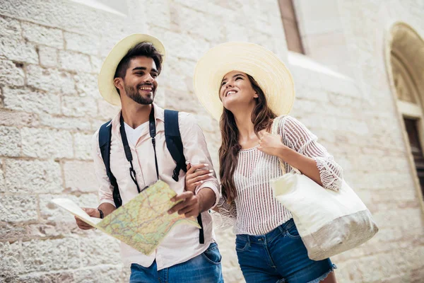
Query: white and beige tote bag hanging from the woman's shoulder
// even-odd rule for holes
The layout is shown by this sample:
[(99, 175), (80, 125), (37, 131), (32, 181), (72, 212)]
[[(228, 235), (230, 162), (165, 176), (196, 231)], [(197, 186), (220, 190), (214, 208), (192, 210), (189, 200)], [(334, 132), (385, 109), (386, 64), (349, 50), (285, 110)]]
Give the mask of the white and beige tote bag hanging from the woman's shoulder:
[[(279, 119), (272, 133), (278, 134)], [(370, 211), (343, 180), (338, 192), (328, 190), (297, 169), (271, 180), (274, 195), (292, 214), (312, 260), (324, 260), (366, 241), (378, 231)]]

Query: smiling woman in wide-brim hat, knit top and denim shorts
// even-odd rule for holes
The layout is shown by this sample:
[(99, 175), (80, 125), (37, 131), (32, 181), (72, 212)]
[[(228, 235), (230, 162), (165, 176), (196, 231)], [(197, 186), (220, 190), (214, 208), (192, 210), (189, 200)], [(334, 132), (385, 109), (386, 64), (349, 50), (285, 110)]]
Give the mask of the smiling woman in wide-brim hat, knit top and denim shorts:
[[(218, 212), (234, 224), (246, 282), (336, 282), (329, 258), (308, 258), (292, 214), (273, 197), (270, 185), (283, 175), (282, 160), (285, 171), (295, 167), (326, 189), (341, 187), (341, 167), (314, 134), (287, 115), (294, 100), (290, 71), (264, 47), (230, 42), (199, 60), (194, 87), (205, 108), (220, 119), (223, 197)], [(274, 120), (278, 131), (270, 134)], [(196, 183), (187, 176), (192, 190), (189, 184)]]

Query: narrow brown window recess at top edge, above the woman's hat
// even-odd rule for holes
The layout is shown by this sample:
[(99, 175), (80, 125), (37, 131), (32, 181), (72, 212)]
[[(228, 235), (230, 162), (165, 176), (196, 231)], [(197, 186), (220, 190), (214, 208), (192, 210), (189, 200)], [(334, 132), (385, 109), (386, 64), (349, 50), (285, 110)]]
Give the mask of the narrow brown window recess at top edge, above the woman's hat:
[(281, 20), (283, 21), (285, 40), (287, 41), (288, 50), (305, 54), (300, 37), (298, 20), (296, 19), (295, 7), (293, 0), (278, 0), (281, 11)]

